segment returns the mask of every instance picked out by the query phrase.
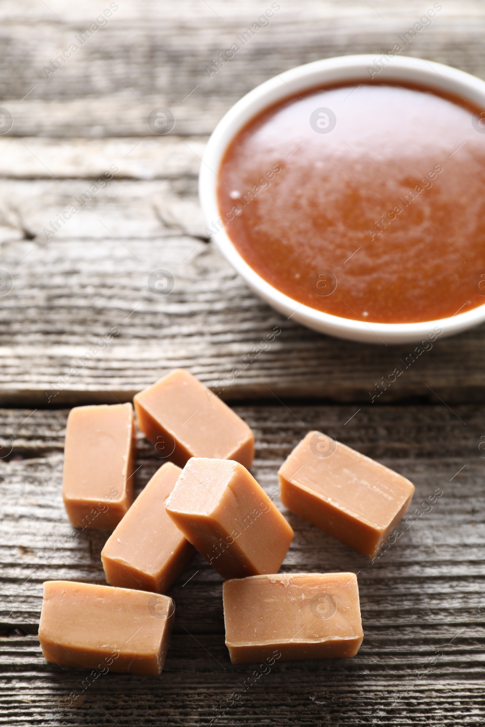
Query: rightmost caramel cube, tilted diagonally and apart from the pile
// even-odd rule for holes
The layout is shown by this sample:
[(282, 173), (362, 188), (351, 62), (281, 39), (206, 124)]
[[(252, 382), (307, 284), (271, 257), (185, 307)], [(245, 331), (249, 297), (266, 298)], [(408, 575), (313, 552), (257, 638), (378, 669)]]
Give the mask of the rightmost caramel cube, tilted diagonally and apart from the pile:
[(321, 432), (308, 432), (278, 475), (289, 510), (370, 558), (414, 493), (405, 477)]

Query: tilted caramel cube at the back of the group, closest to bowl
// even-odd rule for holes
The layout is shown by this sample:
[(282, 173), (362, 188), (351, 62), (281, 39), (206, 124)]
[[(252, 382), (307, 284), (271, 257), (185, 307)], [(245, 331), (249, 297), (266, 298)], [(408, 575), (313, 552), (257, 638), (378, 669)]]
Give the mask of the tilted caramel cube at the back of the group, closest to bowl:
[(235, 459), (251, 467), (252, 430), (185, 369), (175, 369), (133, 401), (140, 428), (160, 457), (180, 467), (191, 457)]

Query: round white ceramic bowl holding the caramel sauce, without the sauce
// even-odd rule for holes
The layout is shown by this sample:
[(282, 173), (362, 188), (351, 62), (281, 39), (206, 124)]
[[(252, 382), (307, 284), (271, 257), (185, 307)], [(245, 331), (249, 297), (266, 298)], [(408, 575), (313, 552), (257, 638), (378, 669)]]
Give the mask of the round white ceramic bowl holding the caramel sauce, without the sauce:
[[(352, 321), (350, 318), (331, 316), (329, 313), (309, 308), (308, 305), (302, 305), (267, 283), (241, 257), (220, 222), (220, 210), (217, 203), (217, 183), (219, 182), (217, 174), (219, 174), (225, 150), (239, 130), (265, 108), (284, 98), (291, 97), (292, 90), (300, 92), (326, 84), (347, 83), (348, 81), (369, 82), (370, 76), (367, 69), (374, 64), (375, 60), (376, 58), (371, 55), (347, 55), (317, 60), (315, 63), (300, 65), (298, 68), (292, 68), (291, 71), (281, 73), (281, 76), (265, 81), (264, 84), (241, 98), (217, 124), (207, 144), (199, 175), (202, 211), (207, 221), (207, 227), (231, 265), (236, 268), (239, 275), (254, 292), (284, 316), (291, 317), (292, 320), (299, 321), (321, 333), (377, 344), (421, 341), (436, 326), (442, 329), (441, 335), (451, 336), (485, 321), (485, 302), (478, 308), (468, 310), (466, 313), (458, 313), (452, 318), (440, 318), (421, 323), (364, 323), (363, 321)], [(465, 99), (485, 108), (485, 81), (441, 63), (396, 56), (379, 73), (379, 81), (382, 83), (386, 80), (404, 83), (408, 81), (424, 85), (430, 90), (435, 89), (447, 93), (452, 87)]]

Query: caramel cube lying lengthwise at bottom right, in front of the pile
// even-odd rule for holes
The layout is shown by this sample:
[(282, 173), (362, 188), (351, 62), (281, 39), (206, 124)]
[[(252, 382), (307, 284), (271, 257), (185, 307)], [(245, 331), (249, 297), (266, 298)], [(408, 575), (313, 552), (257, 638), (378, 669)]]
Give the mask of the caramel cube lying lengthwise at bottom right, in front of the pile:
[(364, 638), (353, 573), (233, 579), (223, 585), (223, 601), (233, 664), (342, 659), (355, 656)]

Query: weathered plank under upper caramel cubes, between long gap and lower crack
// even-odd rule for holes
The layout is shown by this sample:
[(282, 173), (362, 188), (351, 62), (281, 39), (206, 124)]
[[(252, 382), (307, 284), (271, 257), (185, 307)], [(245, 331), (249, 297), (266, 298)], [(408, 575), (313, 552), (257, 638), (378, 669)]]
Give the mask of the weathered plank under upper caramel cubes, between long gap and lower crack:
[[(292, 571), (310, 569), (362, 569), (361, 579), (377, 582), (382, 598), (385, 580), (392, 577), (396, 584), (406, 580), (400, 596), (401, 614), (406, 621), (412, 601), (419, 594), (422, 579), (430, 578), (438, 608), (441, 598), (449, 598), (458, 584), (460, 593), (472, 599), (470, 608), (478, 608), (481, 579), (485, 575), (482, 563), (485, 529), (480, 516), (485, 507), (481, 492), (484, 462), (478, 449), (483, 430), (484, 409), (480, 406), (457, 407), (456, 413), (438, 406), (426, 407), (364, 407), (352, 416), (350, 406), (292, 407), (238, 407), (241, 416), (254, 429), (257, 438), (254, 475), (268, 494), (278, 494), (276, 470), (292, 447), (309, 428), (318, 427), (359, 451), (375, 457), (411, 478), (417, 486), (416, 505), (420, 499), (433, 495), (436, 489), (443, 494), (436, 499), (428, 515), (422, 514), (417, 522), (403, 534), (396, 547), (379, 558), (373, 565), (364, 556), (355, 553), (336, 540), (322, 534), (300, 518), (286, 513), (297, 531), (285, 567)], [(12, 451), (7, 451), (0, 462), (4, 483), (1, 501), (4, 507), (2, 562), (4, 576), (12, 583), (12, 598), (23, 608), (12, 615), (15, 624), (23, 612), (24, 623), (33, 624), (39, 616), (39, 583), (54, 569), (59, 577), (80, 577), (103, 582), (103, 569), (99, 553), (105, 533), (98, 531), (72, 531), (65, 516), (60, 485), (62, 479), (62, 447), (67, 412), (10, 410), (0, 412), (1, 431), (5, 443), (12, 438)], [(300, 423), (301, 422), (301, 423)], [(423, 433), (426, 439), (423, 441)], [(143, 487), (153, 471), (160, 465), (152, 446), (139, 435), (141, 465), (137, 473), (137, 490)], [(457, 474), (457, 471), (462, 471)], [(429, 509), (427, 507), (426, 509)], [(431, 512), (433, 515), (431, 515)], [(35, 527), (33, 527), (35, 523)], [(435, 550), (438, 551), (436, 557)], [(198, 558), (196, 566), (188, 566), (185, 576), (199, 569), (201, 575), (191, 581), (193, 587), (205, 587), (207, 582), (219, 588), (221, 579), (215, 571)], [(456, 570), (458, 569), (458, 570)], [(61, 576), (62, 574), (62, 576)], [(31, 576), (28, 578), (28, 576)], [(459, 576), (459, 579), (457, 579)], [(25, 579), (27, 579), (25, 581)], [(436, 580), (435, 580), (436, 579)], [(478, 581), (476, 581), (478, 579)], [(19, 586), (19, 583), (24, 583)], [(465, 582), (463, 582), (465, 581)], [(375, 586), (375, 583), (374, 583)], [(185, 593), (180, 589), (180, 593)], [(404, 595), (404, 594), (407, 595)], [(365, 598), (365, 592), (364, 596)], [(33, 599), (33, 600), (32, 600)], [(420, 603), (422, 598), (419, 597)], [(31, 604), (30, 608), (28, 604)], [(391, 602), (392, 603), (392, 599)], [(388, 622), (390, 603), (381, 603), (376, 616)], [(363, 601), (363, 608), (369, 604)], [(440, 608), (453, 608), (452, 603), (441, 603)], [(33, 608), (33, 611), (31, 611)], [(463, 604), (460, 603), (460, 608)], [(31, 613), (29, 616), (28, 613)], [(430, 612), (430, 621), (436, 622), (436, 612)], [(438, 619), (439, 620), (439, 619)], [(204, 617), (198, 622), (204, 630)], [(409, 621), (410, 623), (410, 621)], [(220, 626), (220, 624), (219, 624)], [(212, 624), (212, 628), (215, 624)]]

